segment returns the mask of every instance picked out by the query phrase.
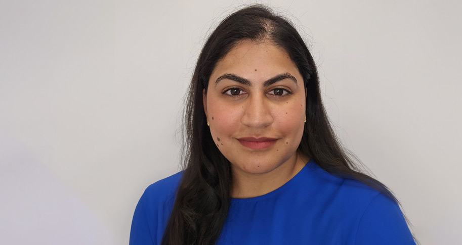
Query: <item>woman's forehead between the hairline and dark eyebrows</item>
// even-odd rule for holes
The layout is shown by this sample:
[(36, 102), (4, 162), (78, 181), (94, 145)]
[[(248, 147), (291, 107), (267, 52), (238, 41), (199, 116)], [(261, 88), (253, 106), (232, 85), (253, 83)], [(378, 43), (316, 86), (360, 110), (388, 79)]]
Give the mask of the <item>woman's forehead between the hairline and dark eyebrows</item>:
[(289, 73), (297, 77), (297, 80), (301, 78), (297, 66), (287, 52), (269, 41), (239, 42), (217, 63), (210, 79), (215, 80), (226, 73), (236, 74), (254, 82), (264, 81), (281, 73)]

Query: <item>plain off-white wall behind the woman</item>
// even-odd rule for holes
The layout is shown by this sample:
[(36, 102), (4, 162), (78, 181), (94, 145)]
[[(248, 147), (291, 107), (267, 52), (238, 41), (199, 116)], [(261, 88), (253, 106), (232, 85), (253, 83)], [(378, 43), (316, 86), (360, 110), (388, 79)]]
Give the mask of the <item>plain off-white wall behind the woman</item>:
[[(253, 1), (1, 1), (0, 243), (127, 244), (178, 171), (209, 32)], [(462, 2), (261, 1), (298, 19), (339, 136), (422, 244), (460, 244)]]

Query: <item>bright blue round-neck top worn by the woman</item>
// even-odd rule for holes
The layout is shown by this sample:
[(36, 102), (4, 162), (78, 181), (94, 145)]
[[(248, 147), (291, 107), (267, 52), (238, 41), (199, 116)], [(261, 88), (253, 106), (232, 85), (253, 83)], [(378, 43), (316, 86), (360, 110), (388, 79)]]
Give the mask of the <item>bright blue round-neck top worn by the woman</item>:
[[(131, 245), (160, 244), (181, 172), (151, 184), (133, 216)], [(399, 206), (314, 161), (283, 186), (232, 199), (217, 244), (415, 244)]]

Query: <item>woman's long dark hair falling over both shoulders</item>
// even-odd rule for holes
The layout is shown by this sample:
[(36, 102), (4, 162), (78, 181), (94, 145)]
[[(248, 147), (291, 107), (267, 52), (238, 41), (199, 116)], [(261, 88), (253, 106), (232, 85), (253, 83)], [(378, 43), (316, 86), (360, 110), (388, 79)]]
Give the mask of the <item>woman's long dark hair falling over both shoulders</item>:
[(225, 18), (199, 55), (185, 110), (185, 170), (162, 244), (213, 244), (225, 223), (232, 173), (229, 161), (218, 150), (207, 127), (202, 91), (206, 92), (217, 62), (244, 39), (266, 39), (284, 48), (303, 76), (307, 122), (297, 151), (325, 171), (364, 182), (396, 202), (385, 185), (360, 172), (335, 137), (321, 101), (316, 66), (303, 38), (289, 21), (265, 6), (254, 5)]

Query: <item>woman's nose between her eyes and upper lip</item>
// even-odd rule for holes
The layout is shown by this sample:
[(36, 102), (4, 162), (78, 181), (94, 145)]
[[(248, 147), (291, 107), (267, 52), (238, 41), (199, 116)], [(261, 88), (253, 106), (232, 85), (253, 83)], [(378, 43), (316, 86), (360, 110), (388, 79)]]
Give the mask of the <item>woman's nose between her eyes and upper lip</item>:
[(241, 123), (248, 127), (262, 128), (273, 123), (271, 106), (265, 95), (253, 94), (244, 105)]

